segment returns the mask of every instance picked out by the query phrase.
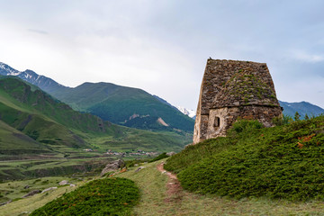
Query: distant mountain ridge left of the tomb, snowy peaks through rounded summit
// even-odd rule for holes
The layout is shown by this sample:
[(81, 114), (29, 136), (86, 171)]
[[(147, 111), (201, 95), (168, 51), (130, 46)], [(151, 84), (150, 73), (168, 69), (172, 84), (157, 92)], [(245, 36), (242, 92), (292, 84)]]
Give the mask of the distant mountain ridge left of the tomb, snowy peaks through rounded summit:
[[(70, 88), (31, 70), (21, 72), (4, 63), (0, 63), (0, 75), (18, 76), (69, 104), (76, 111), (90, 112), (105, 121), (146, 130), (193, 132), (194, 121), (191, 118), (165, 100), (139, 88), (111, 83), (84, 83)], [(134, 115), (137, 117), (130, 121)], [(145, 116), (145, 120), (141, 116)]]

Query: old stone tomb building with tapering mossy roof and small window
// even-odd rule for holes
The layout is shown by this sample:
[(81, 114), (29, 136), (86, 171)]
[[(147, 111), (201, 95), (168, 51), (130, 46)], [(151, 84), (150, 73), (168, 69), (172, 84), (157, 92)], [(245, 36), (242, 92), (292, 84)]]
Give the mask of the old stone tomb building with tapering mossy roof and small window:
[(238, 118), (271, 127), (281, 115), (265, 63), (210, 58), (202, 78), (193, 143), (225, 136)]

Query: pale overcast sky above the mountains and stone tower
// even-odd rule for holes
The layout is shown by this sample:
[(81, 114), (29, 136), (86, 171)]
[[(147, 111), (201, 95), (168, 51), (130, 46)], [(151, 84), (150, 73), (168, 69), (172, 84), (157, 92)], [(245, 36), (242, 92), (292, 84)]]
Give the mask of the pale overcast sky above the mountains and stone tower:
[(207, 58), (265, 62), (279, 100), (324, 107), (324, 1), (0, 0), (0, 61), (196, 109)]

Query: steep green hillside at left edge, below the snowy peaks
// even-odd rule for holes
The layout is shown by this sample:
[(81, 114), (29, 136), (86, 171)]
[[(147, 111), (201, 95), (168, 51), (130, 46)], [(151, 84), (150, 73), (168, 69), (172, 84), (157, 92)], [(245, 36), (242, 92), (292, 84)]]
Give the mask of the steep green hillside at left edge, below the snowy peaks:
[(14, 77), (0, 80), (0, 114), (1, 120), (14, 129), (57, 148), (86, 148), (88, 145), (76, 130), (99, 132), (109, 128), (99, 118), (75, 112), (49, 94), (32, 91), (30, 85)]

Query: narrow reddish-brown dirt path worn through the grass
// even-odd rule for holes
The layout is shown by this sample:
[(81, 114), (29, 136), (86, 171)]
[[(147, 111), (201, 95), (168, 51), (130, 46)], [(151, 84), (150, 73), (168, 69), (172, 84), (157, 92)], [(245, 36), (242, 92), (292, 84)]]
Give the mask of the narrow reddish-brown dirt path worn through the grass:
[(167, 172), (164, 168), (164, 163), (157, 165), (157, 170), (162, 174), (166, 174), (168, 176), (168, 181), (166, 184), (166, 199), (165, 202), (181, 202), (184, 193), (181, 187), (179, 180), (177, 179), (175, 174)]

